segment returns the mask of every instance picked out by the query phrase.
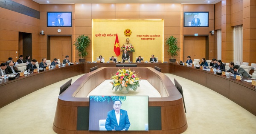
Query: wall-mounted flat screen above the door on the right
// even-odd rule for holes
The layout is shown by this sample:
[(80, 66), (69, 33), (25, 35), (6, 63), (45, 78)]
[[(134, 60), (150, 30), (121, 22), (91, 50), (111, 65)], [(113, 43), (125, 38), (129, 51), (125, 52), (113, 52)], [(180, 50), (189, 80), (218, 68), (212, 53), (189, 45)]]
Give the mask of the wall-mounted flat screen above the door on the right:
[(209, 12), (184, 12), (184, 27), (209, 27)]

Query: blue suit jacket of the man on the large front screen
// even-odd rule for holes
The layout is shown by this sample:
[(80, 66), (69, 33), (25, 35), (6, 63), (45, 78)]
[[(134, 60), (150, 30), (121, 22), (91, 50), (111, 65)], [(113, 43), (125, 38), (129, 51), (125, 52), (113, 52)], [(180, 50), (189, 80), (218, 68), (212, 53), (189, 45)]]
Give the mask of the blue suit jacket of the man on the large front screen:
[(111, 131), (112, 129), (114, 129), (120, 131), (125, 128), (125, 131), (127, 131), (130, 125), (131, 124), (129, 121), (127, 111), (120, 109), (119, 125), (117, 125), (115, 110), (108, 111), (108, 116), (105, 124), (105, 128), (107, 130)]

